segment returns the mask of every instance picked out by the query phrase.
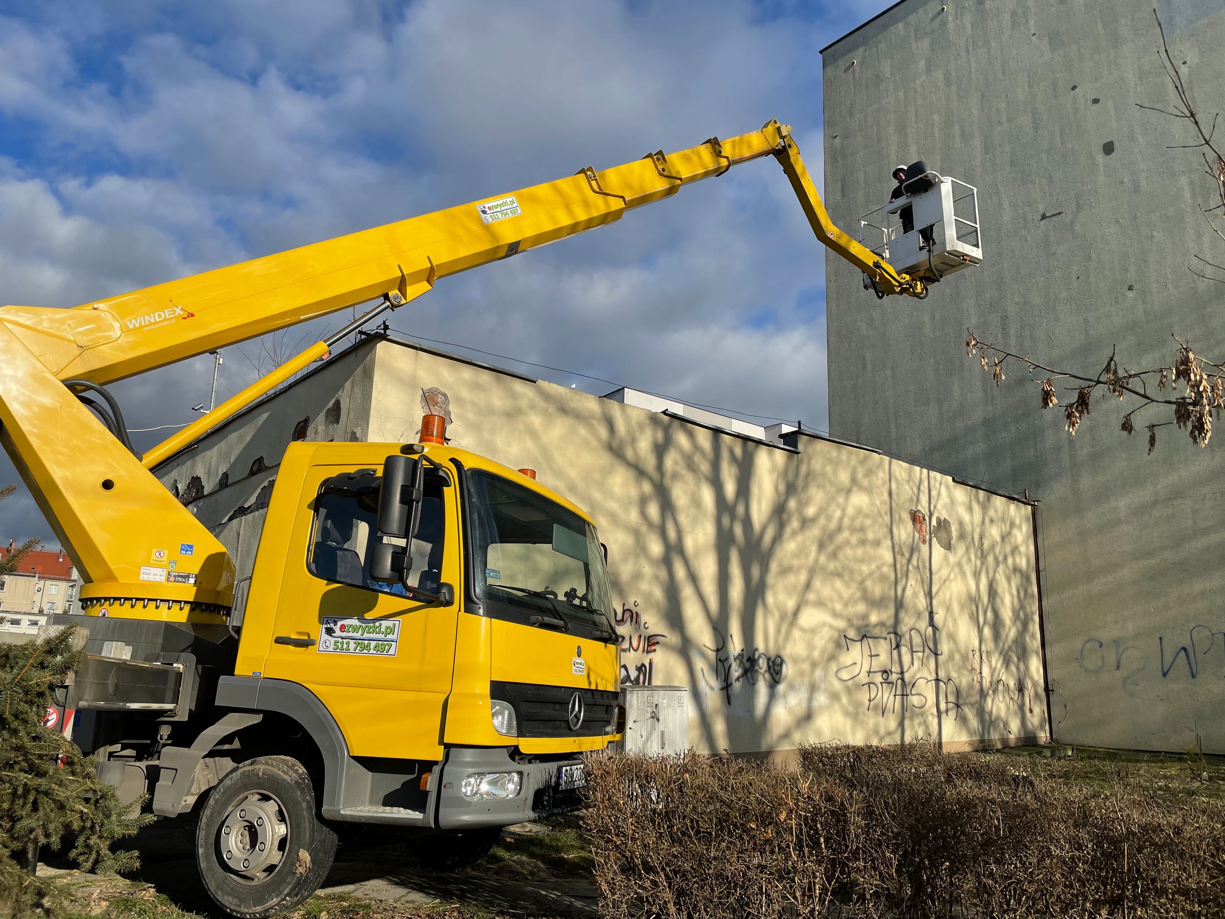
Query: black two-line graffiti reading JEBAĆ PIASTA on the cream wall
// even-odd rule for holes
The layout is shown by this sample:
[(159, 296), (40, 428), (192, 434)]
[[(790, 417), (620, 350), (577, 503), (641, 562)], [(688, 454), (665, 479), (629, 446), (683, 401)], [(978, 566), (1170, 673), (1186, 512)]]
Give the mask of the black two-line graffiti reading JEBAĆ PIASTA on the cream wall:
[(862, 687), (869, 712), (880, 711), (883, 718), (931, 709), (957, 720), (962, 711), (957, 680), (937, 675), (942, 654), (938, 627), (843, 635), (842, 645), (845, 663), (834, 675)]

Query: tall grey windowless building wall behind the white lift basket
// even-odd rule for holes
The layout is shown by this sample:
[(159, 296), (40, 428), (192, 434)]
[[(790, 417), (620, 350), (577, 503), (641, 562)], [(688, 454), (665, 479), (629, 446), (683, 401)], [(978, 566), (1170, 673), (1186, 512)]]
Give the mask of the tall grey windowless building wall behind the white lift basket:
[[(1225, 0), (1156, 0), (1205, 113), (1225, 104)], [(844, 227), (924, 158), (979, 187), (985, 261), (924, 303), (877, 301), (827, 260), (831, 429), (1041, 500), (1056, 734), (1104, 746), (1225, 752), (1225, 446), (1118, 428), (1094, 402), (1076, 439), (984, 341), (1094, 376), (1169, 364), (1171, 333), (1225, 353), (1225, 261), (1199, 213), (1210, 180), (1170, 109), (1153, 0), (904, 0), (823, 50), (824, 196)], [(1218, 223), (1220, 225), (1220, 223)], [(1061, 398), (1067, 398), (1061, 392)], [(1133, 408), (1134, 403), (1126, 408)], [(1057, 410), (1057, 409), (1056, 409)], [(1167, 420), (1149, 408), (1137, 415)]]

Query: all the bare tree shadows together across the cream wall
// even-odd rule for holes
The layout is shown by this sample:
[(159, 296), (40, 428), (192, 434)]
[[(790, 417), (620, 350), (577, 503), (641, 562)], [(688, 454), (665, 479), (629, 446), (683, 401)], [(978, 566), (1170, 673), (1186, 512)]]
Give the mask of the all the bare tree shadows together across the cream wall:
[[(611, 474), (632, 477), (600, 522), (632, 535), (646, 581), (626, 582), (614, 546), (614, 586), (662, 600), (653, 616), (691, 687), (693, 746), (1045, 733), (1028, 509), (875, 455), (822, 452), (845, 447), (796, 456), (560, 402), (576, 436), (622, 467)], [(937, 521), (949, 549), (927, 538)]]

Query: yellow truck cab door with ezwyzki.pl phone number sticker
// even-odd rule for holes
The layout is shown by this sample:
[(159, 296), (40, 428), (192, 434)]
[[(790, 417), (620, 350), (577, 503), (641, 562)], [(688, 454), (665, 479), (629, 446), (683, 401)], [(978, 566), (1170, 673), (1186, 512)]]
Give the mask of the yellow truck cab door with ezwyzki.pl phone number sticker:
[[(321, 490), (350, 471), (307, 473), (263, 675), (318, 696), (353, 756), (436, 760), (458, 605), (413, 600), (370, 578), (377, 496)], [(462, 596), (456, 491), (446, 473), (426, 473), (409, 583), (430, 593), (446, 582)]]

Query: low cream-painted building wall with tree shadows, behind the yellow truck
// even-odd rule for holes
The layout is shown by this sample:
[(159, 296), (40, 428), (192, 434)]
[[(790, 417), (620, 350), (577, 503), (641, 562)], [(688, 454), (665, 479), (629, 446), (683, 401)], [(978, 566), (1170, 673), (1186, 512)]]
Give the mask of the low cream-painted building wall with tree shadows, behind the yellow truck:
[[(873, 451), (772, 446), (392, 341), (341, 359), (370, 380), (366, 439), (415, 440), (428, 393), (453, 445), (533, 468), (593, 515), (622, 680), (691, 687), (696, 749), (1047, 735), (1028, 505)], [(201, 518), (251, 545), (235, 527), (257, 520), (263, 480), (213, 480), (252, 451), (274, 475), (284, 425), (261, 419), (326, 410), (339, 384), (301, 380), (158, 474), (207, 471)]]

